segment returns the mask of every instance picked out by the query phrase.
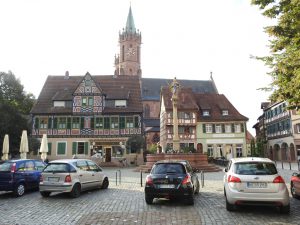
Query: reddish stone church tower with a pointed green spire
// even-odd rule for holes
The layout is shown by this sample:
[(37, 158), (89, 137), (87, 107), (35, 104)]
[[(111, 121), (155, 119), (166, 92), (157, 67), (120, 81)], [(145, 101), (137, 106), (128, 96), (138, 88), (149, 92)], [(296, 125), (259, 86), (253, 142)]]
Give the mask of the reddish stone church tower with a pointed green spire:
[(130, 6), (126, 27), (119, 33), (120, 53), (115, 56), (115, 75), (142, 76), (141, 43), (142, 35), (135, 28)]

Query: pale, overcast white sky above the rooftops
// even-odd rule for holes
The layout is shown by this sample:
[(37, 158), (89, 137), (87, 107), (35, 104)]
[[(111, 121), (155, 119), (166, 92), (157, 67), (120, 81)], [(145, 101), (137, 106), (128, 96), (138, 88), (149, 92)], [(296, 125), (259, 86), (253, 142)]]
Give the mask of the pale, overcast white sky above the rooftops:
[(1, 0), (0, 71), (12, 71), (36, 97), (48, 75), (113, 75), (119, 32), (132, 7), (142, 33), (144, 78), (213, 79), (249, 118), (270, 93), (270, 24), (250, 0)]

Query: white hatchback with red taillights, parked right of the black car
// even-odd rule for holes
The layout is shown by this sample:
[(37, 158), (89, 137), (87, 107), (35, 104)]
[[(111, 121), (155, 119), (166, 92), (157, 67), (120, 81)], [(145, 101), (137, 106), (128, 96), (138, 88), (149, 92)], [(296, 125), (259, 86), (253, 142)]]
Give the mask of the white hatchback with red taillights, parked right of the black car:
[(281, 213), (290, 212), (287, 186), (270, 159), (234, 158), (224, 172), (224, 195), (228, 211), (240, 205), (263, 205), (279, 207)]

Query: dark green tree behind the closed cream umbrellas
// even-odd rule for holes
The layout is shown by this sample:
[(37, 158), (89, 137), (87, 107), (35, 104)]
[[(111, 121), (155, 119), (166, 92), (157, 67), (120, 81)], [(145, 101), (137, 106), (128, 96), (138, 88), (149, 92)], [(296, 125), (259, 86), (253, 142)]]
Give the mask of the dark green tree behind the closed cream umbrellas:
[(9, 135), (10, 152), (19, 152), (22, 130), (30, 133), (29, 113), (35, 102), (32, 94), (24, 91), (12, 72), (0, 72), (0, 150), (5, 134)]

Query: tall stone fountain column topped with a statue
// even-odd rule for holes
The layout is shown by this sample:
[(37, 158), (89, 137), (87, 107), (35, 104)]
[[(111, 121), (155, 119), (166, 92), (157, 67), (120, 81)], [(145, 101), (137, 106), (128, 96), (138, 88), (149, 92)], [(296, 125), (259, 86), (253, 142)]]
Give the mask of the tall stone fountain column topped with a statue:
[(179, 152), (179, 137), (178, 137), (178, 117), (177, 117), (177, 102), (178, 102), (178, 89), (179, 83), (174, 78), (171, 84), (172, 98), (173, 103), (173, 150)]

